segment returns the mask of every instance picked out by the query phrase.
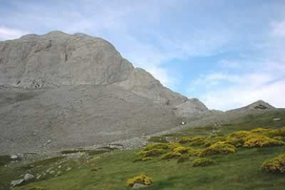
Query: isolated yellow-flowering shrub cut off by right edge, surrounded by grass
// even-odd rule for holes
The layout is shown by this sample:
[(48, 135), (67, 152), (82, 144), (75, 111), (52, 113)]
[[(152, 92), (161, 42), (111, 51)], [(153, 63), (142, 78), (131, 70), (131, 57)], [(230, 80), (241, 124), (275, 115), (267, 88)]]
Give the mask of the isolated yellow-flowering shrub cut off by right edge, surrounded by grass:
[(262, 170), (271, 172), (285, 172), (285, 154), (277, 156), (262, 163)]

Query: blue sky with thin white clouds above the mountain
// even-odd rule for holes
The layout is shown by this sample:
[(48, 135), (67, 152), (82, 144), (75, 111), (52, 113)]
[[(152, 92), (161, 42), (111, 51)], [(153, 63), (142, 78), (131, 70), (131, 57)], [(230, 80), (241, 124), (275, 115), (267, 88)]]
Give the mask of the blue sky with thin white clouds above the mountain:
[(0, 41), (83, 32), (209, 109), (285, 107), (284, 0), (0, 0)]

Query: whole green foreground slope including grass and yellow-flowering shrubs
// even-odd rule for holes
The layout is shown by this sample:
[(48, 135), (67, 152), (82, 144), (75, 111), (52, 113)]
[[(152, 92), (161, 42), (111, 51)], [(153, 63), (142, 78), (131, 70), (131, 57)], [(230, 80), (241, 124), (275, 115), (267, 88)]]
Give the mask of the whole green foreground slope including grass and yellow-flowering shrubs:
[[(284, 189), (284, 127), (279, 127), (282, 120), (277, 121), (278, 126), (273, 123), (272, 118), (277, 116), (264, 117), (246, 116), (236, 125), (192, 127), (170, 134), (167, 139), (172, 142), (94, 154), (87, 160), (64, 161), (64, 155), (24, 166), (8, 164), (0, 167), (0, 189), (9, 189), (10, 181), (18, 180), (27, 171), (37, 176), (40, 171), (58, 168), (61, 162), (60, 176), (47, 174), (14, 189), (129, 190), (135, 183), (150, 181), (148, 190)], [(72, 169), (67, 171), (69, 167)], [(96, 169), (91, 171), (93, 168)], [(140, 173), (147, 173), (151, 180)]]

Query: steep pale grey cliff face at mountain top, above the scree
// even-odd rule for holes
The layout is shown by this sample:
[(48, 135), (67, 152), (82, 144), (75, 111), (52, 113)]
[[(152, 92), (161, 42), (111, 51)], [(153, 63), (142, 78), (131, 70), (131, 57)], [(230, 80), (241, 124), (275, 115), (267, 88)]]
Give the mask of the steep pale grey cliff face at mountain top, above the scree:
[(131, 70), (111, 43), (85, 34), (50, 32), (0, 43), (0, 85), (108, 85)]

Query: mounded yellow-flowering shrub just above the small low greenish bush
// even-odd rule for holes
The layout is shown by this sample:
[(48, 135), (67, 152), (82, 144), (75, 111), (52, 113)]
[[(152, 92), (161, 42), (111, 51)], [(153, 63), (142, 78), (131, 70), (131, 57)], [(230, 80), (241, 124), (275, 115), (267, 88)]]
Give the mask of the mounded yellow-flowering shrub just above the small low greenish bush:
[(213, 154), (233, 154), (237, 151), (235, 146), (226, 144), (225, 142), (216, 142), (201, 151), (199, 156), (210, 156)]

